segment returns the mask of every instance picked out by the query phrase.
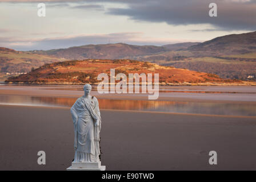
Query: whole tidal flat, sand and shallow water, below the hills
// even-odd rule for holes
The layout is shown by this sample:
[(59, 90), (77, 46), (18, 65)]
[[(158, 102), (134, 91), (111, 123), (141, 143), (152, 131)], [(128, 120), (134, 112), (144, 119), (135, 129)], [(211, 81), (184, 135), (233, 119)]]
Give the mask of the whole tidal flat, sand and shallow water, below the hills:
[[(256, 87), (166, 89), (152, 102), (143, 94), (92, 92), (101, 109), (101, 161), (107, 170), (256, 169)], [(71, 86), (0, 85), (0, 170), (69, 167), (74, 158), (69, 109), (82, 95)], [(225, 109), (229, 112), (218, 113)], [(217, 165), (209, 164), (210, 151), (217, 152)]]

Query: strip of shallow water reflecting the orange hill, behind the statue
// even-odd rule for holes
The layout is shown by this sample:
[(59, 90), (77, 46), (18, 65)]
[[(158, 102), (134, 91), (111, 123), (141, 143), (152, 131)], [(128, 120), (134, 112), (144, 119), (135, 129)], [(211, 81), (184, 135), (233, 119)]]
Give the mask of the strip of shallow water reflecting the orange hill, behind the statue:
[[(77, 98), (0, 96), (0, 104), (71, 107)], [(100, 109), (163, 111), (167, 113), (194, 113), (256, 116), (256, 104), (225, 102), (181, 102), (149, 100), (98, 99)]]

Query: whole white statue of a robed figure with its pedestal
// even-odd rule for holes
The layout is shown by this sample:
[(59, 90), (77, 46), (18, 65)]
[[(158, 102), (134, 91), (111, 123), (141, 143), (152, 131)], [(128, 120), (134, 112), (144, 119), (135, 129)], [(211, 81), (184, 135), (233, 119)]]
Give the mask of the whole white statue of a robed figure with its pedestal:
[(90, 96), (91, 85), (83, 86), (84, 96), (79, 97), (71, 107), (74, 123), (75, 156), (72, 166), (68, 170), (105, 170), (101, 166), (101, 150), (99, 147), (101, 131), (101, 113), (96, 97)]

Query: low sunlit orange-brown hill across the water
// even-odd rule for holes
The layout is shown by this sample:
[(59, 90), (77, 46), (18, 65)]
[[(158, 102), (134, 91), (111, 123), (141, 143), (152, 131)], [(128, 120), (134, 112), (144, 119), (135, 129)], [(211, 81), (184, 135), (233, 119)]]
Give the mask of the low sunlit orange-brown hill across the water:
[[(241, 84), (241, 80), (225, 80), (217, 75), (162, 67), (157, 64), (134, 60), (80, 60), (64, 61), (43, 65), (26, 75), (9, 77), (6, 82), (29, 82), (37, 84), (97, 84), (99, 73), (106, 73), (110, 78), (110, 68), (115, 68), (115, 74), (124, 73), (159, 73), (161, 85), (173, 84), (203, 84), (210, 83), (235, 83)], [(118, 81), (117, 81), (118, 82)]]

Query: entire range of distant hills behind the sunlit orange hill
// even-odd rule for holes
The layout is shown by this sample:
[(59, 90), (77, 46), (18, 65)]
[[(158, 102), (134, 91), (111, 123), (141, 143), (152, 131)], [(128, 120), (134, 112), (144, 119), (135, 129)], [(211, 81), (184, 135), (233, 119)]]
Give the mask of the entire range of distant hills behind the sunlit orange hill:
[[(65, 60), (130, 59), (175, 68), (217, 74), (222, 78), (256, 81), (256, 31), (221, 36), (203, 43), (164, 46), (90, 44), (49, 51), (15, 51), (0, 48), (0, 80), (7, 73), (29, 72), (43, 64)], [(13, 76), (13, 75), (11, 75)]]

